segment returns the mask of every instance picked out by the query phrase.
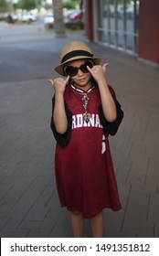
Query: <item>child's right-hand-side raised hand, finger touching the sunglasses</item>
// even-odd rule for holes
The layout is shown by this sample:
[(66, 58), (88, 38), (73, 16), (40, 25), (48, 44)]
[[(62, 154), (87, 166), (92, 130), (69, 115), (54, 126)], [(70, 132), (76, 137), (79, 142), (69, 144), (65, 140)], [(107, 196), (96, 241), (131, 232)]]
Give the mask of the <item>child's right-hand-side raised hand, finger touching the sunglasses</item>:
[(92, 77), (97, 81), (105, 80), (105, 72), (107, 69), (108, 63), (101, 65), (95, 65), (91, 69), (87, 66), (87, 69), (90, 71)]

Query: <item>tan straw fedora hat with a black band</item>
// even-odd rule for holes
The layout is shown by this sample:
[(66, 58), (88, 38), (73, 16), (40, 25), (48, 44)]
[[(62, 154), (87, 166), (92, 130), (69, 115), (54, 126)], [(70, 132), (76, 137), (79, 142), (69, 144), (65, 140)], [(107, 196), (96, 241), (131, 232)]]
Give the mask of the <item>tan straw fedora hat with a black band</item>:
[(58, 65), (55, 70), (58, 74), (66, 76), (63, 71), (66, 63), (76, 59), (92, 59), (95, 65), (99, 65), (101, 61), (99, 57), (93, 56), (91, 49), (85, 43), (81, 41), (71, 41), (62, 49), (60, 65)]

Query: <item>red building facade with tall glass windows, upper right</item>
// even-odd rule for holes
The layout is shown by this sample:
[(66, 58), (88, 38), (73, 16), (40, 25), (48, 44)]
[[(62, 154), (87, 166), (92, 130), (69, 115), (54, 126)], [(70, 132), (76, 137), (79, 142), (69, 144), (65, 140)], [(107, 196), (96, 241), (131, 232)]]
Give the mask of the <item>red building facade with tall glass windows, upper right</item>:
[(158, 0), (85, 0), (90, 41), (159, 65)]

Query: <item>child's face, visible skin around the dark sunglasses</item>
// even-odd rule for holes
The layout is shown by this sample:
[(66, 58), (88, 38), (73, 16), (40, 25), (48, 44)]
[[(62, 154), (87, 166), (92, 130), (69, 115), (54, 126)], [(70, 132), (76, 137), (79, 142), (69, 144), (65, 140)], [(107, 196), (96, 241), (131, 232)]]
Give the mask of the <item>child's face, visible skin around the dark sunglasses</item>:
[[(84, 64), (86, 61), (87, 59), (73, 60), (73, 61), (70, 61), (67, 66), (80, 68), (80, 66)], [(89, 71), (88, 73), (84, 73), (80, 69), (78, 70), (78, 73), (76, 76), (70, 77), (74, 85), (83, 90), (88, 90), (91, 87), (90, 78), (91, 78), (91, 74)]]

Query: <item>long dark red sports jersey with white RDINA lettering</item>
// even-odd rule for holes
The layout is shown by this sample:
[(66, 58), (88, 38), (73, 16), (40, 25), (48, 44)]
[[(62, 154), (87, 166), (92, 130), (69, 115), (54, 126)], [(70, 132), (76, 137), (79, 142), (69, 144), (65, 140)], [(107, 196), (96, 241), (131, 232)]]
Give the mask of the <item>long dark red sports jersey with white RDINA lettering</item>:
[(101, 124), (100, 92), (96, 87), (87, 91), (90, 115), (87, 122), (83, 119), (84, 94), (71, 86), (66, 88), (65, 102), (72, 114), (71, 134), (69, 144), (64, 147), (57, 144), (55, 173), (61, 206), (81, 211), (83, 218), (90, 219), (103, 208), (121, 209), (121, 203), (108, 134)]

